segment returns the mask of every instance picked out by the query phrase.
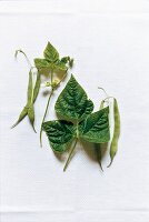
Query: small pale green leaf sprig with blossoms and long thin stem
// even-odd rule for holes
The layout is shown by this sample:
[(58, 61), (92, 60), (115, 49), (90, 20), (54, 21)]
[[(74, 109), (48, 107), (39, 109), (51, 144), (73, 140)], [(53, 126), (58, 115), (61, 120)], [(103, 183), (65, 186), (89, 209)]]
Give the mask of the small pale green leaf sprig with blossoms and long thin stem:
[[(39, 58), (34, 59), (34, 64), (41, 74), (46, 74), (49, 78), (50, 82), (48, 87), (51, 87), (51, 91), (50, 91), (44, 114), (41, 121), (40, 147), (42, 147), (42, 123), (46, 120), (51, 97), (54, 90), (60, 84), (60, 82), (66, 78), (68, 69), (72, 68), (72, 64), (73, 64), (73, 59), (70, 59), (70, 57), (63, 57), (62, 59), (60, 59), (59, 52), (50, 42), (48, 42), (43, 51), (43, 57), (44, 57), (43, 59), (39, 59)], [(59, 71), (63, 72), (63, 75), (60, 81), (57, 81), (54, 80), (54, 73)]]

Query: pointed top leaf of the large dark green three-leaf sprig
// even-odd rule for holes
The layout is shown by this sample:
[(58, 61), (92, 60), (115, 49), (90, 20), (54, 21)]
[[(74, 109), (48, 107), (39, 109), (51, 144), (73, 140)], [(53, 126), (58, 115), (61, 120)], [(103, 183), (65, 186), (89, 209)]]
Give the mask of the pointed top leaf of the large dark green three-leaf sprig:
[(85, 90), (71, 75), (59, 95), (54, 109), (58, 114), (66, 119), (81, 121), (92, 112), (93, 103), (91, 100), (88, 100)]

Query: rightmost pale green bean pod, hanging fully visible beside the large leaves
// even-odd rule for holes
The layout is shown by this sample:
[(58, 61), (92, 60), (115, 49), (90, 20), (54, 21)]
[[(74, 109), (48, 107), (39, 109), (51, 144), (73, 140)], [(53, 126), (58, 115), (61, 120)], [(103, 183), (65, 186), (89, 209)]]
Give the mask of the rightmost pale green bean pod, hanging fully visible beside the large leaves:
[(113, 137), (112, 137), (112, 141), (110, 144), (110, 159), (111, 162), (108, 165), (108, 168), (111, 165), (115, 155), (117, 154), (118, 151), (118, 140), (120, 137), (120, 113), (119, 113), (119, 108), (118, 108), (118, 102), (117, 100), (113, 98), (113, 121), (115, 121), (115, 127), (113, 127)]

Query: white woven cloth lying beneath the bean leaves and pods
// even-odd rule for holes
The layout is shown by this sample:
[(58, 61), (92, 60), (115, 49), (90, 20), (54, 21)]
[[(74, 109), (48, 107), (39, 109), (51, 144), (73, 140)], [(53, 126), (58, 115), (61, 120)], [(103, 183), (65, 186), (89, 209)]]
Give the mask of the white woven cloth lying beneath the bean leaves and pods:
[[(103, 173), (91, 148), (78, 144), (63, 173), (64, 162), (44, 134), (40, 149), (27, 119), (10, 130), (26, 103), (28, 80), (27, 63), (21, 56), (14, 61), (14, 50), (32, 60), (48, 41), (74, 58), (72, 72), (96, 110), (103, 97), (98, 87), (119, 101), (119, 152), (110, 169), (105, 159)], [(46, 102), (41, 92), (38, 132)], [(149, 221), (148, 0), (0, 1), (0, 193), (1, 222)]]

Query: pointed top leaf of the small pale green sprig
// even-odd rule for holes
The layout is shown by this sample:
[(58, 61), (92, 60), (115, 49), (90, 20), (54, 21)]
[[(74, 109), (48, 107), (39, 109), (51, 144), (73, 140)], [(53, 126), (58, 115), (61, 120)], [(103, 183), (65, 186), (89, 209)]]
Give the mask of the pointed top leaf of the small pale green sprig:
[(48, 42), (48, 44), (44, 49), (43, 56), (50, 62), (56, 62), (59, 59), (58, 51), (50, 42)]

